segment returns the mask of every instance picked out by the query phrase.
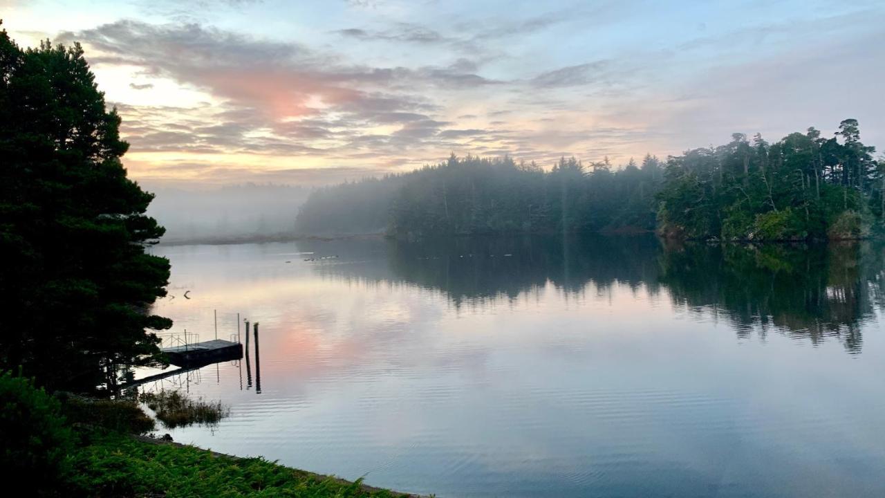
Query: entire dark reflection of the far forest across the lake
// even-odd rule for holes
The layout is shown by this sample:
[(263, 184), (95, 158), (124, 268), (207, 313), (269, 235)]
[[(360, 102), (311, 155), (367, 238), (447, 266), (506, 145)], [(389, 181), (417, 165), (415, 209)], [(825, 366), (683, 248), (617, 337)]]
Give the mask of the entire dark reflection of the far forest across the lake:
[[(860, 323), (883, 295), (881, 246), (676, 244), (657, 237), (475, 237), (403, 243), (381, 239), (306, 242), (320, 275), (418, 285), (455, 307), (515, 300), (546, 284), (568, 295), (626, 284), (675, 307), (730, 323), (740, 338), (771, 331), (842, 341), (861, 351)], [(366, 254), (383, 255), (386, 265)]]

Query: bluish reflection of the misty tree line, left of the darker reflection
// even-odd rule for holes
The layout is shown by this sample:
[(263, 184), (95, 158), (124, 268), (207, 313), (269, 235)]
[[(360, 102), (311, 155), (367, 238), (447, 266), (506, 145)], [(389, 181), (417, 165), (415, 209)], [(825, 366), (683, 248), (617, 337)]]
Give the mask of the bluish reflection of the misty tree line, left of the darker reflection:
[[(331, 245), (331, 246), (330, 246)], [(456, 237), (422, 243), (357, 239), (301, 243), (305, 251), (344, 254), (347, 264), (317, 264), (325, 276), (419, 285), (461, 306), (515, 299), (550, 282), (567, 293), (619, 282), (658, 292), (655, 237)], [(387, 265), (366, 259), (381, 254)]]

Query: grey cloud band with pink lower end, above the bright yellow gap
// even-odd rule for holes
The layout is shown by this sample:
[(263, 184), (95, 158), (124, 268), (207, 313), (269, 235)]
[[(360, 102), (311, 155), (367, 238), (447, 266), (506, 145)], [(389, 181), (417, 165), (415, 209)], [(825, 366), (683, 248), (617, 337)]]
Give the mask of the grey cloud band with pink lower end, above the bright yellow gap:
[(88, 43), (101, 53), (90, 57), (95, 63), (140, 66), (146, 74), (208, 89), (275, 117), (310, 113), (307, 102), (314, 95), (329, 103), (356, 97), (352, 90), (315, 77), (309, 68), (317, 63), (312, 53), (293, 43), (258, 42), (196, 24), (153, 26), (132, 20), (58, 38)]

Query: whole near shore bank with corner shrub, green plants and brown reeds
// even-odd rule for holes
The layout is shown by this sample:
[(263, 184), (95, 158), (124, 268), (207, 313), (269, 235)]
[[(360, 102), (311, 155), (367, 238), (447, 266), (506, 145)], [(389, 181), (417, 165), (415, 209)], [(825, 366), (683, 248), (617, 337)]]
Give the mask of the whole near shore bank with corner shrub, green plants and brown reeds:
[[(158, 416), (165, 426), (217, 423), (227, 413), (219, 402), (175, 392), (144, 401), (169, 417)], [(27, 486), (23, 496), (412, 496), (141, 435), (155, 429), (135, 395), (50, 394), (31, 379), (0, 372), (0, 473)]]

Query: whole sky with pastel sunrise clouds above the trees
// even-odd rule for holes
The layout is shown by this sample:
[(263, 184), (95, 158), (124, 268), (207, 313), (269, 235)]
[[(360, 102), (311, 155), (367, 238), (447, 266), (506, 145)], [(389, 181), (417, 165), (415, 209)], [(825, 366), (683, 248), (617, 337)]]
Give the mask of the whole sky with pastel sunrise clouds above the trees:
[(614, 164), (860, 122), (885, 148), (885, 2), (0, 0), (82, 43), (149, 185), (319, 185), (454, 152)]

